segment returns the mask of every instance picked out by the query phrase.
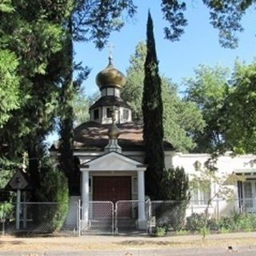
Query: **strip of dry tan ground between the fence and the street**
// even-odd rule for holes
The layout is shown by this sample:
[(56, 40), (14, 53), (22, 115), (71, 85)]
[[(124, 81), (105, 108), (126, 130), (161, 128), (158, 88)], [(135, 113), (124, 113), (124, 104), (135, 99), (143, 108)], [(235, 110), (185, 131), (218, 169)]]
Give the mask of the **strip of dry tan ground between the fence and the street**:
[(203, 241), (200, 235), (166, 236), (152, 238), (141, 236), (85, 235), (82, 237), (16, 238), (0, 237), (1, 251), (46, 250), (138, 250), (168, 248), (236, 248), (256, 247), (256, 233), (210, 234)]

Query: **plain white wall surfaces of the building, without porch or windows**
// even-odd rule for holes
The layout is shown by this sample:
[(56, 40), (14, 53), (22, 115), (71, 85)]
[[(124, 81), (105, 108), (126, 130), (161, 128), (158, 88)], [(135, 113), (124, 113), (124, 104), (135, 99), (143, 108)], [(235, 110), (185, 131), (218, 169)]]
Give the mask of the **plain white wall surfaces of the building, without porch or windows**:
[[(91, 159), (99, 156), (102, 152), (98, 153), (79, 153), (81, 163), (88, 162)], [(130, 158), (134, 158), (138, 162), (144, 161), (144, 153), (143, 152), (135, 152), (135, 151), (126, 151), (123, 152), (124, 155)], [(190, 178), (193, 174), (197, 174), (198, 171), (195, 170), (194, 162), (198, 161), (204, 166), (205, 162), (210, 158), (209, 154), (182, 154), (182, 153), (174, 153), (171, 151), (166, 152), (166, 168), (170, 167), (183, 167), (187, 174), (189, 174)], [(218, 175), (219, 176), (226, 176), (232, 173), (243, 173), (243, 172), (251, 172), (256, 173), (256, 165), (253, 165), (252, 162), (256, 158), (255, 155), (246, 154), (232, 157), (230, 154), (225, 154), (218, 158), (218, 162), (216, 167), (218, 168)], [(230, 189), (234, 190), (235, 198), (238, 198), (238, 188), (237, 184), (234, 183), (233, 185), (229, 186)], [(212, 183), (211, 184), (211, 191), (218, 190), (218, 185)], [(217, 216), (217, 214), (228, 215), (232, 210), (238, 209), (238, 202), (225, 202), (220, 200), (219, 202), (214, 202), (213, 206), (210, 207), (210, 213)], [(192, 206), (190, 209), (187, 210), (187, 214), (191, 212), (202, 213), (205, 210), (205, 206)]]

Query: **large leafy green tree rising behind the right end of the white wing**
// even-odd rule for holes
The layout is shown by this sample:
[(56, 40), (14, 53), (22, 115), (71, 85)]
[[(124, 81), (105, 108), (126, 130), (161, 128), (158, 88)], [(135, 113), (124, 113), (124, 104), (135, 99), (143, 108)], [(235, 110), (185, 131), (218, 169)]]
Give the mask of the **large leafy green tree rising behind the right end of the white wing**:
[(195, 78), (185, 80), (186, 98), (202, 110), (206, 127), (194, 133), (196, 152), (255, 153), (256, 64), (236, 62), (230, 71), (221, 66), (199, 66)]

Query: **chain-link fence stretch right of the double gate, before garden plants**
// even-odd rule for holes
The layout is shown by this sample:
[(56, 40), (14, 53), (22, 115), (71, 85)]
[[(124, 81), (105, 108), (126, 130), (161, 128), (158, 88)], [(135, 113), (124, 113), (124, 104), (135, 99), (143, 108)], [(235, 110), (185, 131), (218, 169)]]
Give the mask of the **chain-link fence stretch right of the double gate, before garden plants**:
[(256, 199), (211, 202), (152, 201), (149, 203), (149, 233), (194, 234), (201, 232), (256, 231)]

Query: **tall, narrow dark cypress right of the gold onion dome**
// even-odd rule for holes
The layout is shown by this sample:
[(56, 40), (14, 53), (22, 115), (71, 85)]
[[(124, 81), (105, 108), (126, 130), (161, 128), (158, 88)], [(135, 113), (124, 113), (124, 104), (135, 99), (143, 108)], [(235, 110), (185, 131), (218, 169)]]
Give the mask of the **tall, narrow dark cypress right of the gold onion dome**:
[(154, 43), (153, 21), (148, 14), (146, 27), (146, 62), (142, 97), (143, 139), (146, 150), (146, 194), (152, 199), (161, 198), (161, 180), (165, 168), (162, 126), (161, 78)]

